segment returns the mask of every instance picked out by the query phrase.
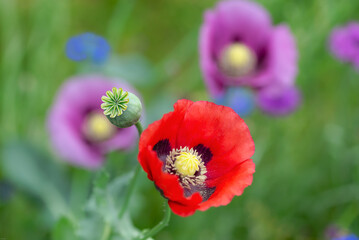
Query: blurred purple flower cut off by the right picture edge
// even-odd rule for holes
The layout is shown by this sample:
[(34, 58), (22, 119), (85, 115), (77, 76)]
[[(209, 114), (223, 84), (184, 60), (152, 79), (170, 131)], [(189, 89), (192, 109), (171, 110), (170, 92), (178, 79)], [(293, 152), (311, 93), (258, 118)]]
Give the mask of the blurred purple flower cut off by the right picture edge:
[(332, 53), (341, 61), (359, 69), (359, 23), (351, 22), (335, 28), (329, 41)]

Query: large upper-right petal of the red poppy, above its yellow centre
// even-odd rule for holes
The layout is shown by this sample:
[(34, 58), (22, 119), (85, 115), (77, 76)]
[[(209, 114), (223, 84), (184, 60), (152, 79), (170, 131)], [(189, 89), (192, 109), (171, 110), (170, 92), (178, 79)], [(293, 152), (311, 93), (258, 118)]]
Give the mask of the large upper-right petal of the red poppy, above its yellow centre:
[(176, 148), (203, 144), (213, 158), (207, 164), (208, 179), (221, 177), (254, 153), (254, 142), (245, 122), (231, 108), (199, 101), (187, 110)]

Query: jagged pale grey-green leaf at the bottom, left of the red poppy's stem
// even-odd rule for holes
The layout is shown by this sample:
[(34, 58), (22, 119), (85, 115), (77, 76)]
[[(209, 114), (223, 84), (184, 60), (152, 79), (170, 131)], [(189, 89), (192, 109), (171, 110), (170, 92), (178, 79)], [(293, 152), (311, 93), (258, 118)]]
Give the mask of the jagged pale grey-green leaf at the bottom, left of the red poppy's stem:
[(86, 217), (79, 222), (77, 234), (81, 239), (98, 240), (108, 232), (108, 239), (130, 240), (140, 236), (140, 230), (133, 226), (128, 213), (119, 219), (131, 177), (132, 174), (126, 174), (108, 182), (108, 174), (99, 173), (85, 206)]

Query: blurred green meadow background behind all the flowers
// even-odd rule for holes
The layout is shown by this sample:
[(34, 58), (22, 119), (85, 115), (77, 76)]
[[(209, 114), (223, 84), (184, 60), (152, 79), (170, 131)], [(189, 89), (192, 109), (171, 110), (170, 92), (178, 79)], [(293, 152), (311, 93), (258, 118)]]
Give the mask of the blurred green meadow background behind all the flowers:
[[(296, 37), (297, 85), (303, 104), (288, 117), (273, 118), (259, 111), (247, 117), (256, 144), (252, 186), (228, 206), (188, 218), (173, 215), (156, 239), (325, 239), (330, 224), (359, 234), (359, 73), (334, 59), (327, 48), (334, 26), (359, 19), (359, 1), (258, 2), (274, 24), (287, 23)], [(113, 53), (136, 56), (149, 81), (133, 82), (144, 96), (148, 123), (169, 111), (176, 99), (208, 99), (197, 38), (203, 12), (215, 4), (214, 0), (0, 0), (1, 151), (10, 141), (22, 140), (53, 161), (45, 128), (48, 109), (62, 82), (88, 71), (64, 54), (66, 41), (75, 34), (97, 33), (108, 39)], [(53, 162), (54, 171), (68, 182), (77, 179), (77, 189), (86, 196), (96, 173), (58, 159)], [(106, 165), (113, 177), (135, 163), (134, 150), (111, 154)], [(26, 170), (19, 165), (13, 175), (26, 175)], [(43, 201), (6, 176), (0, 169), (0, 238), (51, 239), (54, 223)], [(70, 185), (64, 189), (74, 189)], [(154, 226), (161, 220), (164, 201), (143, 172), (136, 192), (135, 225)], [(73, 206), (81, 206), (81, 200), (84, 197)]]

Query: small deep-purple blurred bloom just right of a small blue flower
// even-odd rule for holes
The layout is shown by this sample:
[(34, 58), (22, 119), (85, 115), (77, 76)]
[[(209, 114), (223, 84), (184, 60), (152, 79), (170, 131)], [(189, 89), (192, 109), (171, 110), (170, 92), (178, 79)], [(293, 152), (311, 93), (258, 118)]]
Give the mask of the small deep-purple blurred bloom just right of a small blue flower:
[(286, 115), (297, 109), (301, 94), (295, 87), (268, 87), (260, 90), (257, 105), (271, 115)]

